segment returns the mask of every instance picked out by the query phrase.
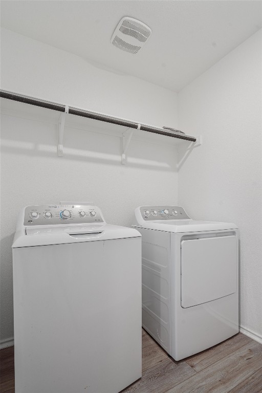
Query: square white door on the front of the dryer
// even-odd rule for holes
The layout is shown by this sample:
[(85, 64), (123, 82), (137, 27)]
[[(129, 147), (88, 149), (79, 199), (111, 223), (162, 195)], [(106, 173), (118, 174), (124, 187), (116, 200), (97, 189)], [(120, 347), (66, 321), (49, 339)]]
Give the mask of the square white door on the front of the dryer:
[(219, 299), (236, 291), (237, 238), (234, 235), (181, 242), (181, 306)]

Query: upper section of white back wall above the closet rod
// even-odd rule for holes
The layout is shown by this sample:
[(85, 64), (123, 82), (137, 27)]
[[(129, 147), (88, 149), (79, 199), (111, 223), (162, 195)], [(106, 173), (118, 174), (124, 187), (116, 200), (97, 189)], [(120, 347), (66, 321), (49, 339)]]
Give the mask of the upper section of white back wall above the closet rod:
[(3, 28), (1, 57), (3, 90), (176, 128), (177, 95), (155, 84)]

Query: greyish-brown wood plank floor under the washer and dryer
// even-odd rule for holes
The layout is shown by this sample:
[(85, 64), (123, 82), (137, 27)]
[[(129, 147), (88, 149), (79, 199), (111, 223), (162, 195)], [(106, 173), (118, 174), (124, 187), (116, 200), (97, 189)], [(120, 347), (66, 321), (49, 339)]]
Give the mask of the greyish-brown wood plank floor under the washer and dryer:
[[(262, 393), (262, 345), (241, 333), (176, 362), (142, 331), (142, 351), (142, 378), (121, 393)], [(14, 393), (13, 347), (0, 363), (0, 391)]]

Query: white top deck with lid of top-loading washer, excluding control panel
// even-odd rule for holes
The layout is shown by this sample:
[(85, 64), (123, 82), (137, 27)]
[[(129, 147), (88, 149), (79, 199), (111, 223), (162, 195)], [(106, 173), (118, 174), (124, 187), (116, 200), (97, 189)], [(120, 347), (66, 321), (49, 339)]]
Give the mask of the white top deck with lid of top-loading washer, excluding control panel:
[(95, 242), (140, 236), (141, 234), (134, 228), (109, 224), (34, 226), (26, 227), (24, 231), (17, 231), (12, 248)]

